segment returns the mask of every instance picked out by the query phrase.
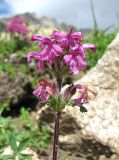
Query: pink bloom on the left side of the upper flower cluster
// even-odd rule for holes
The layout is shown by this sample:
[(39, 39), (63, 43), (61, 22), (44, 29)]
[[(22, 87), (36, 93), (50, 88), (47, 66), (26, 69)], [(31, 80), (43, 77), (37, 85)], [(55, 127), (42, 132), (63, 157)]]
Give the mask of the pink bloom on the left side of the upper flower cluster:
[(55, 44), (50, 38), (34, 35), (31, 41), (38, 41), (41, 51), (31, 52), (28, 54), (28, 61), (35, 58), (39, 61), (48, 61), (50, 64), (54, 63), (55, 60), (62, 55), (63, 51), (60, 46)]

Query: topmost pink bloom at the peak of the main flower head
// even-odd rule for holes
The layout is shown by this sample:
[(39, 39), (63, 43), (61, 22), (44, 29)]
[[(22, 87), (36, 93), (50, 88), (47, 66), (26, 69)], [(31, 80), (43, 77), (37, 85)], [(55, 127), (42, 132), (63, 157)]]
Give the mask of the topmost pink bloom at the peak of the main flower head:
[(69, 49), (70, 47), (74, 47), (75, 44), (80, 44), (80, 42), (83, 40), (83, 35), (81, 32), (72, 33), (72, 28), (69, 28), (67, 33), (54, 31), (51, 35), (51, 38), (58, 43), (61, 43), (62, 48)]

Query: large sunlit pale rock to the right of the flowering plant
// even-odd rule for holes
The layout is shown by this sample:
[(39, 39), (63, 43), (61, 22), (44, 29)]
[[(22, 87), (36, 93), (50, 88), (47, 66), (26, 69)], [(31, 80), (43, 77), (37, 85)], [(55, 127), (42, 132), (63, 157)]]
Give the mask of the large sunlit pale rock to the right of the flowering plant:
[(88, 113), (82, 114), (75, 107), (70, 114), (85, 136), (97, 139), (119, 154), (119, 34), (98, 64), (76, 83), (91, 83), (98, 96), (86, 105)]

